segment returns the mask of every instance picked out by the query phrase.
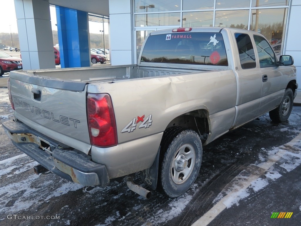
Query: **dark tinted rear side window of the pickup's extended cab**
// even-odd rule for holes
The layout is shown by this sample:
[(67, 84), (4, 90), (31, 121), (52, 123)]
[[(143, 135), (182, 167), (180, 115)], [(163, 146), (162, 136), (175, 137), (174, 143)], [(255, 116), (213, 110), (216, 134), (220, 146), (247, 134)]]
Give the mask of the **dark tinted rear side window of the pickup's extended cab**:
[(250, 69), (256, 67), (255, 53), (250, 36), (247, 34), (235, 33), (235, 39), (241, 68)]

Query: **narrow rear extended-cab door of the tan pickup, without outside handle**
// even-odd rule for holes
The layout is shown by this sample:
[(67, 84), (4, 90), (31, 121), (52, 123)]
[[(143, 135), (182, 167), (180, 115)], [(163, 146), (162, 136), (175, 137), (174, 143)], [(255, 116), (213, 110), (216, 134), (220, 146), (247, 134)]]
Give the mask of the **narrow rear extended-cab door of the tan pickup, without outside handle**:
[[(256, 118), (260, 105), (261, 75), (256, 65), (256, 56), (251, 37), (244, 33), (234, 34), (240, 64), (238, 64), (237, 88), (240, 99), (237, 101), (237, 116), (233, 127)], [(237, 56), (238, 58), (238, 56)]]

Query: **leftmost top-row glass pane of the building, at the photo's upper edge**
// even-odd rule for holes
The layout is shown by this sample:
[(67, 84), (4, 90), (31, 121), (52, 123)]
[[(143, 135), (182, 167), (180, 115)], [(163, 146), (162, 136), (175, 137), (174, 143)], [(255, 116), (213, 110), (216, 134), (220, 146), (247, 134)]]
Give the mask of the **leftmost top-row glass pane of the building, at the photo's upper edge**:
[(135, 0), (135, 13), (180, 11), (181, 0)]

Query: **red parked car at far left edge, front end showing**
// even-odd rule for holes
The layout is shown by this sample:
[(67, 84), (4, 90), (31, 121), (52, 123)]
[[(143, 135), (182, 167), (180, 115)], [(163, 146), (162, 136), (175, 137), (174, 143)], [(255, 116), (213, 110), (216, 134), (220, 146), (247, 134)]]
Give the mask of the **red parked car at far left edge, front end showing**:
[(12, 57), (7, 53), (0, 51), (0, 76), (5, 72), (22, 69), (22, 61), (18, 57)]

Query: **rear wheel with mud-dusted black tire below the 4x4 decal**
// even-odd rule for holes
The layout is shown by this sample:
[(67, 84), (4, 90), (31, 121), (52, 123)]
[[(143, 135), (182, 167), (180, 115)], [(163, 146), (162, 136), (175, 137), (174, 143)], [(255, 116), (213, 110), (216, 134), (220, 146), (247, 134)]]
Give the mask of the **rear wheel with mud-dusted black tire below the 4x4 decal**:
[(199, 135), (184, 127), (170, 127), (163, 133), (158, 185), (169, 197), (185, 193), (200, 171), (203, 148)]

